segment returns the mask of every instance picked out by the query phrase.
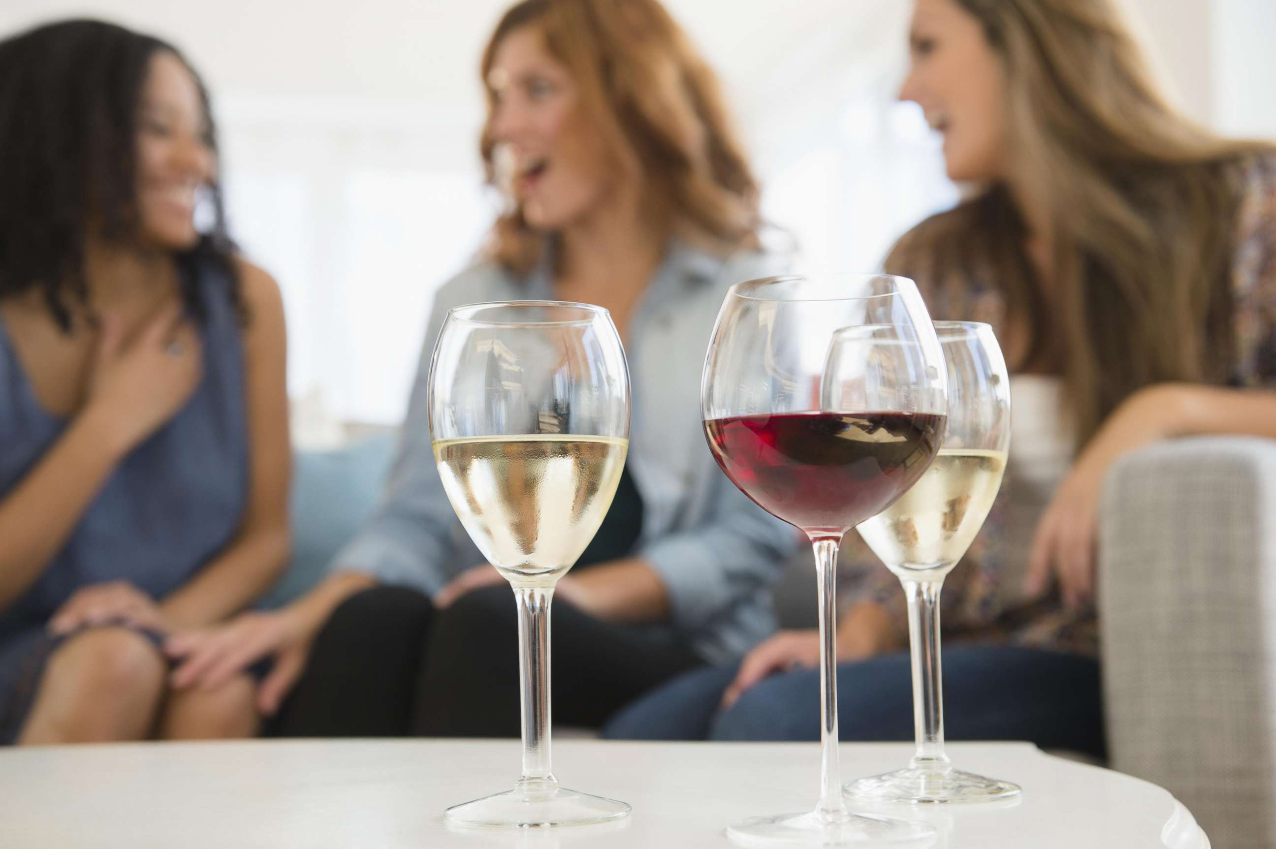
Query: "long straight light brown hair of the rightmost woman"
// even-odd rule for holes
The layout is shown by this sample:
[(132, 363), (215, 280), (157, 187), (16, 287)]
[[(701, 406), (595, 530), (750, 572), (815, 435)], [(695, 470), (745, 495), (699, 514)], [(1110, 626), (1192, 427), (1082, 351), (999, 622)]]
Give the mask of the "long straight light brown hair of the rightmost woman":
[(1114, 0), (956, 1), (1004, 64), (1013, 167), (1049, 207), (1055, 300), (1048, 310), (1004, 185), (924, 222), (888, 268), (986, 277), (1027, 321), (1025, 362), (1060, 352), (1086, 440), (1141, 386), (1222, 379), (1240, 162), (1273, 148), (1171, 107)]

